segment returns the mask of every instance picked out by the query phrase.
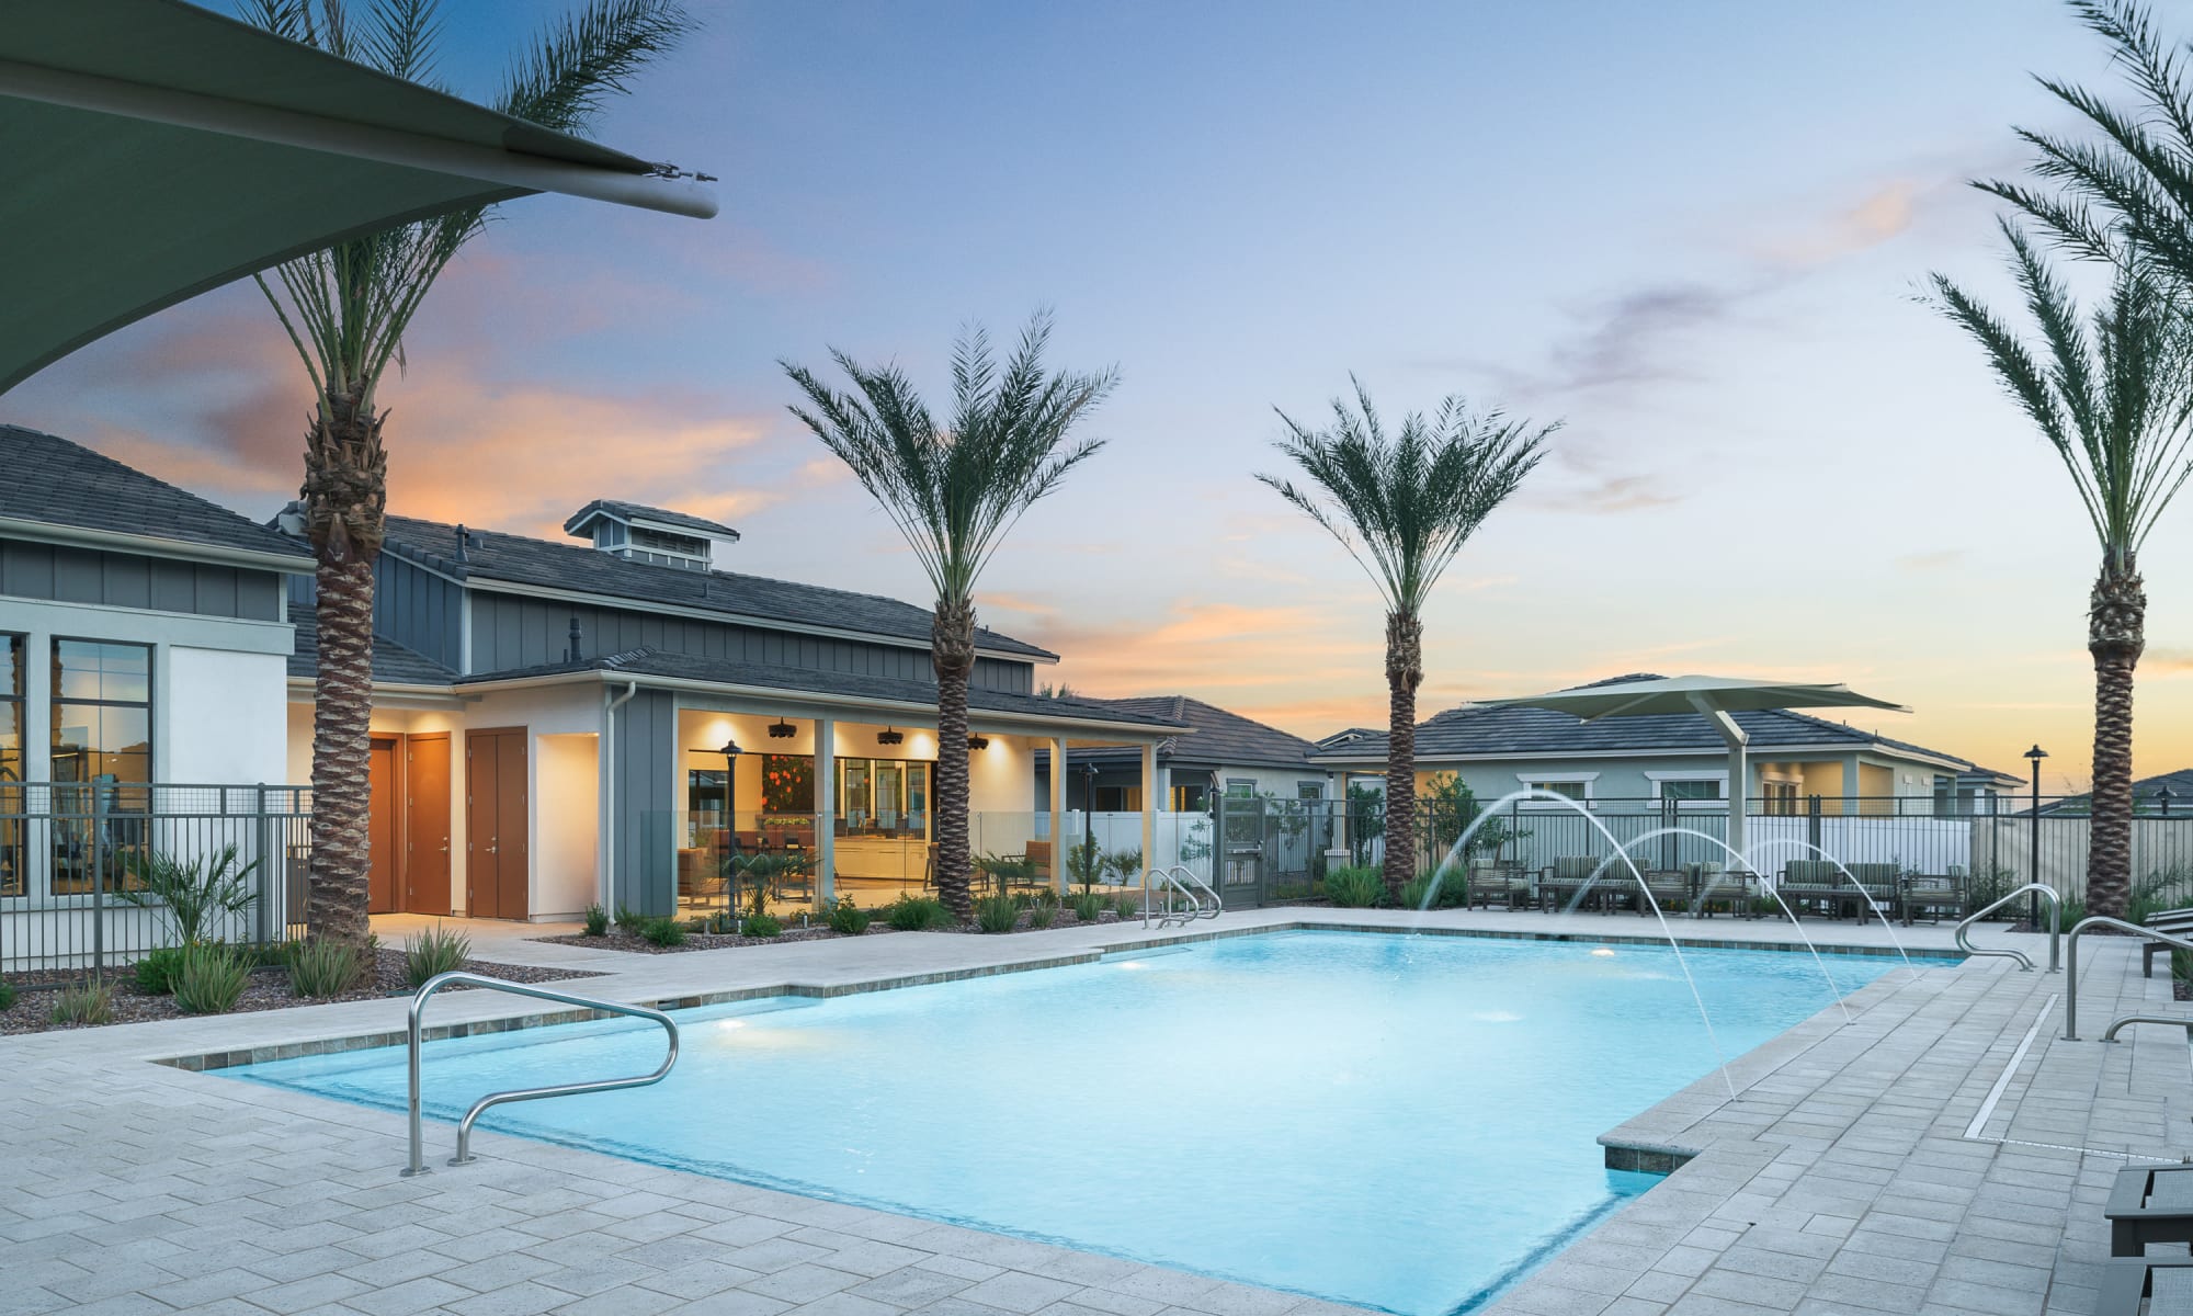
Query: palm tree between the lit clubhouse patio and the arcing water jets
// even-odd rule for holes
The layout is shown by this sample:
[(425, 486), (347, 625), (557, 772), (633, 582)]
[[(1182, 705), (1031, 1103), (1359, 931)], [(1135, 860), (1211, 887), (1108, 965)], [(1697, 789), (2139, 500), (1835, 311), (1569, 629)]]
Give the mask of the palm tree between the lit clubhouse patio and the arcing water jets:
[(1279, 450), (1309, 485), (1257, 476), (1325, 526), (1386, 599), (1386, 890), (1414, 877), (1417, 687), (1423, 684), (1423, 603), (1469, 535), (1544, 456), (1559, 421), (1533, 428), (1447, 397), (1439, 415), (1408, 412), (1390, 436), (1355, 382), (1355, 410), (1333, 399), (1333, 428), (1279, 412)]

